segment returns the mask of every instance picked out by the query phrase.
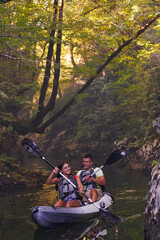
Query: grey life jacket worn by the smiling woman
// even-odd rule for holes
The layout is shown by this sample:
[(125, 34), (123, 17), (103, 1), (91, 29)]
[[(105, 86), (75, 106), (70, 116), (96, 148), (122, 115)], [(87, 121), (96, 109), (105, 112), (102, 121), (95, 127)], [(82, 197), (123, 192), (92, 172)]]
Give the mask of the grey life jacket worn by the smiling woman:
[[(74, 183), (77, 186), (77, 182), (75, 178), (70, 175), (69, 180)], [(79, 195), (77, 189), (75, 189), (65, 178), (60, 178), (59, 186), (59, 198), (66, 201), (69, 196), (72, 197), (72, 199), (81, 199), (81, 196)]]

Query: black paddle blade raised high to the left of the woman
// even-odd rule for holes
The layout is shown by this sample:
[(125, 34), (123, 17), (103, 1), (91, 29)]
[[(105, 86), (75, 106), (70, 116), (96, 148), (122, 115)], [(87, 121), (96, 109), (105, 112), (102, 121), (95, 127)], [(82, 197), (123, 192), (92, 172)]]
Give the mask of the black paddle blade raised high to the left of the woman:
[(32, 140), (24, 138), (21, 144), (28, 152), (38, 154), (40, 157), (42, 157), (39, 147)]

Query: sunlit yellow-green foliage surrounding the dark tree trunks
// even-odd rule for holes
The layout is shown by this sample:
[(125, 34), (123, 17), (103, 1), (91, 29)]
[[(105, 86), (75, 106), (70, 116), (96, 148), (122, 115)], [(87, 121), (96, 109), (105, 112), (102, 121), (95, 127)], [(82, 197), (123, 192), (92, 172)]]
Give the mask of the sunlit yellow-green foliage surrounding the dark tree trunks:
[[(0, 5), (1, 126), (8, 123), (8, 130), (12, 130), (15, 121), (30, 123), (36, 115), (51, 30), (62, 29), (63, 33), (57, 111), (120, 44), (155, 16), (158, 8), (150, 0), (66, 1), (63, 23), (59, 24), (52, 20), (50, 0)], [(152, 30), (112, 60), (105, 76), (97, 77), (88, 92), (76, 96), (82, 108), (75, 110), (79, 116), (77, 141), (85, 137), (100, 144), (127, 137), (133, 142), (137, 136), (137, 144), (141, 144), (153, 134), (151, 121), (160, 113), (159, 30), (157, 20)], [(56, 34), (54, 43), (58, 41)], [(44, 104), (52, 92), (53, 68), (54, 62)]]

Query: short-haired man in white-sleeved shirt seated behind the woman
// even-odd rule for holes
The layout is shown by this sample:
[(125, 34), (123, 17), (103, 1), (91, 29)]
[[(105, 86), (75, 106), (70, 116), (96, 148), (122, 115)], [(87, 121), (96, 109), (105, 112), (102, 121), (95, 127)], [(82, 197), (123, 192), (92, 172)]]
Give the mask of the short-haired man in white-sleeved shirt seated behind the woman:
[[(105, 177), (100, 169), (96, 174), (98, 168), (93, 168), (93, 160), (91, 154), (85, 154), (83, 157), (83, 170), (77, 173), (83, 184), (84, 193), (91, 198), (93, 202), (102, 197), (102, 190), (100, 187), (105, 186)], [(93, 175), (93, 176), (91, 176)], [(87, 199), (83, 199), (87, 201)]]

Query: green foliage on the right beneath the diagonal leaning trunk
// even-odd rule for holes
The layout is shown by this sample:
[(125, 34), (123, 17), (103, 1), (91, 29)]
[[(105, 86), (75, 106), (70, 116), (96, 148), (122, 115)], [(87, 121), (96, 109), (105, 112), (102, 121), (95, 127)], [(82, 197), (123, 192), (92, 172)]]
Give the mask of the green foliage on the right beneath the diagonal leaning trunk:
[(116, 58), (107, 67), (105, 76), (97, 78), (87, 97), (74, 108), (76, 142), (83, 143), (85, 139), (88, 144), (113, 143), (126, 137), (130, 146), (140, 147), (154, 138), (152, 120), (159, 113), (160, 91), (155, 52), (159, 53), (159, 47), (154, 44), (155, 34), (148, 33), (139, 42), (147, 42), (148, 35), (147, 48), (134, 44)]

